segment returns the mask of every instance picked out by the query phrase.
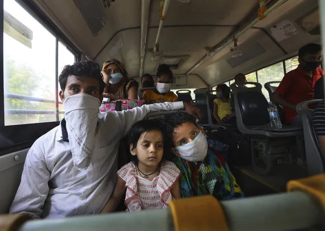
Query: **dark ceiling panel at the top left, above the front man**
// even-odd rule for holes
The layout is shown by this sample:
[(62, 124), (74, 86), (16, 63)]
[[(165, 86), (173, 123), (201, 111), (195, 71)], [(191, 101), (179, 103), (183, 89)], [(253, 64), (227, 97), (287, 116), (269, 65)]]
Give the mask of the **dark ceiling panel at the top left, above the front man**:
[(94, 35), (106, 25), (105, 15), (99, 0), (74, 0), (84, 20)]

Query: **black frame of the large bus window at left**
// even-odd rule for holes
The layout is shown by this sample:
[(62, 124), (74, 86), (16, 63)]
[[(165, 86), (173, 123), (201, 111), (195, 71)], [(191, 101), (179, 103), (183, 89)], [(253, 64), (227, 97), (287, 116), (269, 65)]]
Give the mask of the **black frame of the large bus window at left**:
[[(41, 23), (46, 30), (56, 38), (55, 44), (55, 78), (58, 77), (58, 41), (66, 45), (66, 48), (75, 56), (75, 61), (81, 60), (81, 52), (78, 48), (58, 29), (53, 22), (39, 9), (39, 7), (32, 1), (15, 0), (24, 10), (31, 14), (39, 23)], [(4, 0), (0, 0), (4, 6)], [(4, 8), (0, 11), (1, 17), (4, 18)], [(0, 28), (4, 31), (3, 23), (0, 23)], [(2, 34), (1, 48), (4, 46), (4, 36)], [(4, 63), (0, 62), (0, 82), (4, 82)], [(55, 81), (53, 79), (53, 81)], [(58, 83), (55, 81), (55, 106), (56, 106), (56, 119), (58, 119)], [(29, 148), (33, 145), (34, 141), (43, 134), (47, 133), (54, 127), (60, 124), (60, 121), (44, 122), (36, 124), (20, 124), (5, 126), (5, 94), (4, 84), (0, 84), (0, 156), (18, 151), (21, 149)]]

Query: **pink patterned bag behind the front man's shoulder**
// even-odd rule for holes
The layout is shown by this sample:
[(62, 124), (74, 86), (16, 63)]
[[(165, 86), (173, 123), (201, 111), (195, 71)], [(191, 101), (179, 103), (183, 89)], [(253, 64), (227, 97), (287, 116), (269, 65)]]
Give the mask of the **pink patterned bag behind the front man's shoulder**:
[(129, 110), (134, 107), (140, 107), (144, 104), (144, 100), (137, 99), (121, 99), (116, 101), (109, 101), (107, 103), (102, 103), (99, 107), (101, 112), (105, 111), (121, 111), (121, 110)]

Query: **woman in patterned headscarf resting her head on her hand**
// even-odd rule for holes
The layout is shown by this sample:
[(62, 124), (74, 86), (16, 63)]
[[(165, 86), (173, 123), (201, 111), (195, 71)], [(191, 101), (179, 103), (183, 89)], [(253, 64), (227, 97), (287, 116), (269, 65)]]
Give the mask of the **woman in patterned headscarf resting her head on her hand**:
[(122, 62), (111, 59), (103, 64), (103, 80), (106, 83), (103, 97), (110, 100), (138, 99), (139, 83), (128, 77)]

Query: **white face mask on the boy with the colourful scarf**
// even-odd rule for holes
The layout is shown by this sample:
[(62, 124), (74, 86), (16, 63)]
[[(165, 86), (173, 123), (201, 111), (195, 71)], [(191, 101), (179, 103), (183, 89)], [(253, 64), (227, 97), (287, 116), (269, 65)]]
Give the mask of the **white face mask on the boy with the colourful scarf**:
[(208, 142), (206, 142), (203, 133), (200, 132), (192, 142), (175, 149), (179, 152), (181, 158), (185, 160), (191, 162), (202, 161), (208, 154)]

